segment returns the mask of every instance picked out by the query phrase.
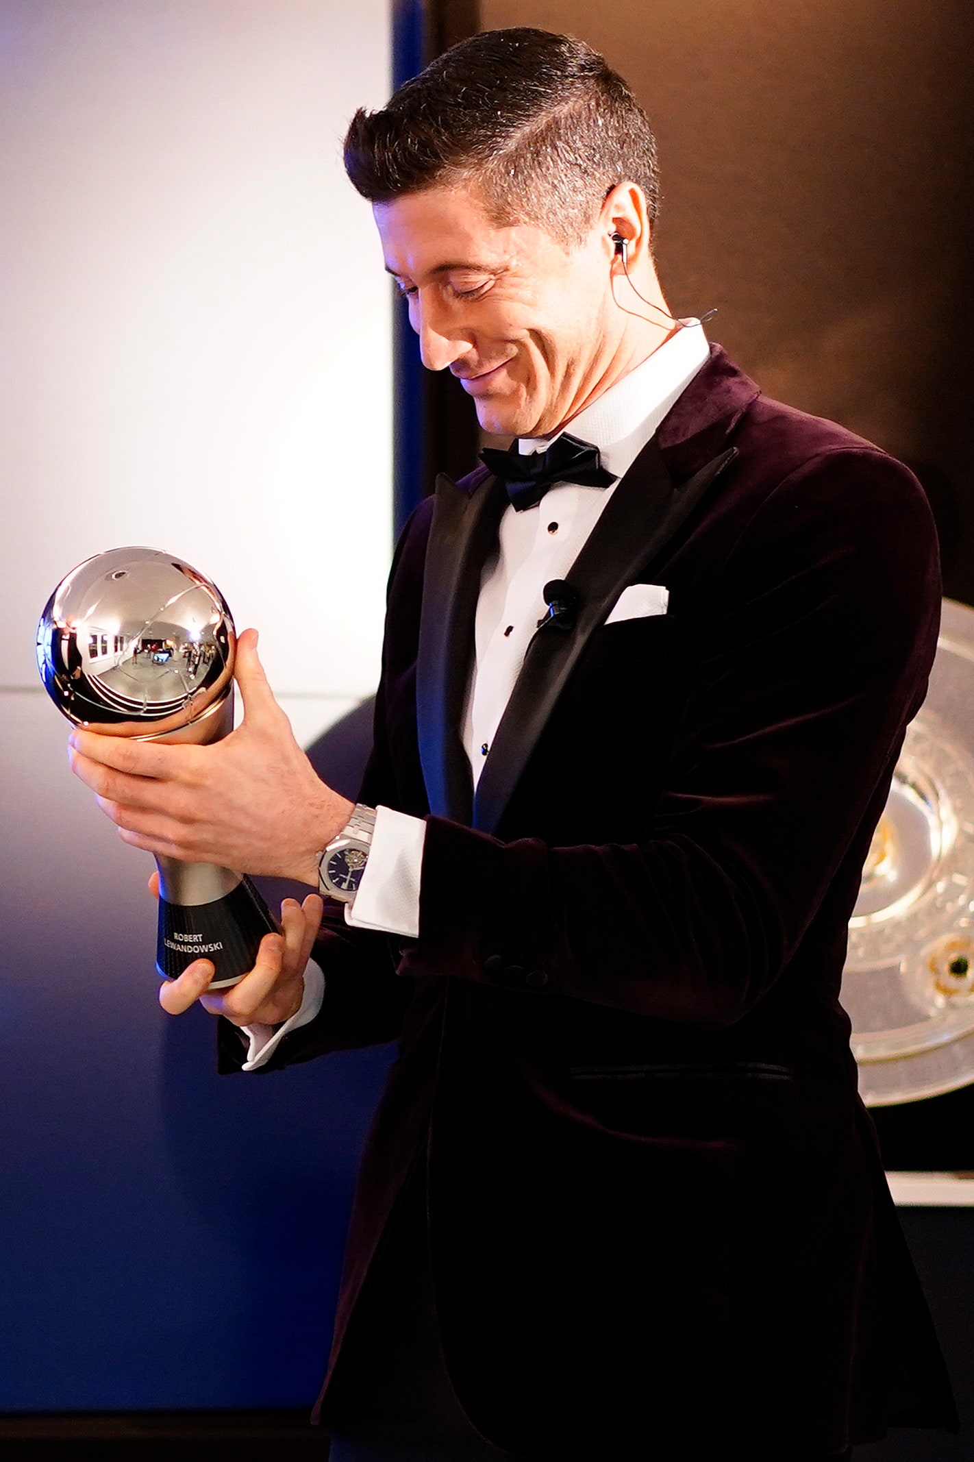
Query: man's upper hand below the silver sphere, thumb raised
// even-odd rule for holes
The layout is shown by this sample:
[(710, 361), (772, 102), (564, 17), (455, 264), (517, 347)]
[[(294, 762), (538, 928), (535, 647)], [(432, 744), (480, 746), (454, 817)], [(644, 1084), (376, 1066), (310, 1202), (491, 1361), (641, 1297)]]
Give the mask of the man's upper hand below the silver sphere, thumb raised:
[(257, 659), (237, 642), (244, 719), (212, 746), (167, 746), (75, 730), (72, 770), (133, 848), (317, 885), (314, 854), (354, 804), (316, 775)]

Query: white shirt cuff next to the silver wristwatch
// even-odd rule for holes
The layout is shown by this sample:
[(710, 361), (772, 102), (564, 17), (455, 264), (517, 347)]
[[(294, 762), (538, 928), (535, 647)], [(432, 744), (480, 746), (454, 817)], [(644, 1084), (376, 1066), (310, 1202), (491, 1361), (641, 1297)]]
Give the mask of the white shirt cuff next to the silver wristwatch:
[(376, 808), (369, 863), (354, 901), (345, 905), (347, 924), (418, 937), (424, 839), (421, 817)]

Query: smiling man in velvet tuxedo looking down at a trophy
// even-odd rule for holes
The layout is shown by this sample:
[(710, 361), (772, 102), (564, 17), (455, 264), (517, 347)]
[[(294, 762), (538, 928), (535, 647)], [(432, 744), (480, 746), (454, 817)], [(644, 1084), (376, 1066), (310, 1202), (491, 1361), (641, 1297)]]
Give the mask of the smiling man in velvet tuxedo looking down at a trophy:
[(206, 961), (162, 988), (224, 1016), (222, 1070), (399, 1041), (332, 1456), (812, 1462), (954, 1427), (838, 1003), (935, 654), (926, 499), (671, 317), (649, 124), (584, 44), (467, 41), (345, 158), (424, 364), (518, 439), (402, 534), (361, 803), (253, 633), (218, 746), (72, 738), (127, 842), (320, 860), (344, 901), (287, 904), (227, 993)]

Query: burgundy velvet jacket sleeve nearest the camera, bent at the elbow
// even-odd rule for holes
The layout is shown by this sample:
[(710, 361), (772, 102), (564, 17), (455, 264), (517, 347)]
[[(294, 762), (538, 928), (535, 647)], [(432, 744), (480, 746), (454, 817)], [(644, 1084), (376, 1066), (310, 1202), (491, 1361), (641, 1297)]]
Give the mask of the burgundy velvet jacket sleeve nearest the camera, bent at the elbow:
[(402, 974), (486, 981), (507, 962), (537, 999), (714, 1028), (774, 984), (926, 694), (940, 573), (923, 490), (879, 450), (820, 453), (714, 589), (645, 838), (505, 844), (430, 817)]

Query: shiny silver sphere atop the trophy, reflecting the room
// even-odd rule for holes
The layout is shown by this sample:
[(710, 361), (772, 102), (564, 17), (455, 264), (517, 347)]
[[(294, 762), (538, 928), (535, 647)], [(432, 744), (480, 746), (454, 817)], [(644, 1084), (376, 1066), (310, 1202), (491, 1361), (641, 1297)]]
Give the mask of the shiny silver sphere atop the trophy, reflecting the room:
[(54, 589), (37, 658), (75, 725), (159, 737), (227, 702), (235, 643), (227, 602), (202, 573), (156, 548), (113, 548)]

